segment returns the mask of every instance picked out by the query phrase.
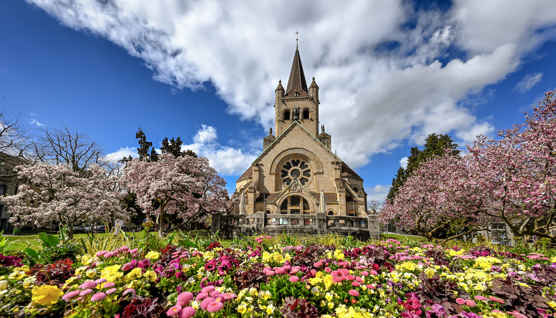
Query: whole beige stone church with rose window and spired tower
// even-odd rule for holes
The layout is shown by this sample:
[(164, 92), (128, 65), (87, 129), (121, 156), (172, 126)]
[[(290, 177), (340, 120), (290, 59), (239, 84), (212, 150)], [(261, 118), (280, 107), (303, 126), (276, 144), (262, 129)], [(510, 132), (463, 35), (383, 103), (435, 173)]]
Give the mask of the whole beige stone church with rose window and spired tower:
[(319, 122), (319, 86), (314, 77), (307, 86), (297, 47), (287, 86), (280, 80), (275, 94), (275, 135), (270, 128), (262, 153), (237, 179), (234, 214), (367, 216), (363, 178), (332, 151)]

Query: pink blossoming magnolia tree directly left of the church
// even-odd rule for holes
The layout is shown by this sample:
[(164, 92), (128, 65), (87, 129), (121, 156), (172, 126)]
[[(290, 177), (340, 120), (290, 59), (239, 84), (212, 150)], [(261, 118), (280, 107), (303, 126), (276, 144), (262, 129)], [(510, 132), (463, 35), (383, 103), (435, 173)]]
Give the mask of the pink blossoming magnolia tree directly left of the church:
[(227, 208), (226, 181), (205, 157), (164, 154), (148, 162), (134, 158), (127, 163), (121, 180), (135, 193), (137, 204), (158, 217), (160, 236), (175, 230), (164, 229), (165, 216), (178, 218), (181, 224), (202, 222), (207, 215)]

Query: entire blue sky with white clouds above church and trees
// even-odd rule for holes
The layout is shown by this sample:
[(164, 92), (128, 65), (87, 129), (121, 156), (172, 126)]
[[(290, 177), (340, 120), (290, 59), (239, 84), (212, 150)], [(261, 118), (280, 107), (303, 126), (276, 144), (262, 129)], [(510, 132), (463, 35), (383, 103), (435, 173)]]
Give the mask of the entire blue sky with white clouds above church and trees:
[(181, 137), (233, 192), (274, 125), (296, 31), (332, 150), (383, 200), (429, 133), (464, 146), (556, 87), (551, 1), (3, 0), (0, 109), (135, 155)]

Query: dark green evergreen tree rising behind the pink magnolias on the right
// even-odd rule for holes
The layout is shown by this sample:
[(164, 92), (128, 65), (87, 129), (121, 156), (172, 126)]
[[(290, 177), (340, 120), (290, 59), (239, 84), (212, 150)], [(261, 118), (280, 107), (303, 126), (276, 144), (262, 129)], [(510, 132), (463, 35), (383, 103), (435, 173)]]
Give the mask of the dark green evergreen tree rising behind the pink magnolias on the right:
[(454, 143), (454, 140), (448, 135), (436, 135), (436, 133), (431, 133), (425, 138), (425, 145), (423, 150), (419, 150), (418, 147), (411, 147), (411, 155), (408, 157), (408, 166), (406, 168), (400, 167), (398, 173), (392, 179), (392, 186), (388, 192), (388, 200), (393, 201), (396, 193), (398, 193), (399, 188), (404, 184), (405, 180), (411, 175), (421, 161), (425, 161), (427, 158), (437, 155), (444, 155), (445, 150), (449, 149), (452, 153), (458, 155), (460, 151), (458, 150), (458, 144)]

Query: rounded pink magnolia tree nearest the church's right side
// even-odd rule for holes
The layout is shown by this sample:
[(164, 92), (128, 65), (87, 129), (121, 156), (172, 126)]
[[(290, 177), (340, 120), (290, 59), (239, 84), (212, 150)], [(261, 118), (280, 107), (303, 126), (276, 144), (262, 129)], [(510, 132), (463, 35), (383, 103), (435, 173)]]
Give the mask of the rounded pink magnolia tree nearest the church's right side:
[(394, 202), (387, 200), (379, 221), (393, 222), (429, 240), (450, 225), (459, 225), (459, 231), (444, 240), (485, 230), (493, 217), (482, 211), (491, 202), (470, 182), (472, 174), (464, 158), (449, 151), (421, 162), (399, 188)]

